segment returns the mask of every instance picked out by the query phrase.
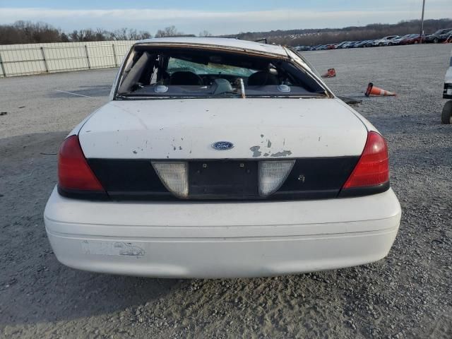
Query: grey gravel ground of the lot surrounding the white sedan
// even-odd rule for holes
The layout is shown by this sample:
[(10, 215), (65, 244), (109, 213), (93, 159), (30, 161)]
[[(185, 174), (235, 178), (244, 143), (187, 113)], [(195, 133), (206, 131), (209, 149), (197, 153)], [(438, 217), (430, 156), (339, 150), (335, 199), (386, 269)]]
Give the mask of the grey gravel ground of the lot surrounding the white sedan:
[(115, 71), (1, 79), (0, 337), (452, 338), (452, 126), (439, 124), (451, 47), (305, 53), (321, 73), (335, 67), (327, 82), (338, 94), (361, 96), (369, 81), (398, 93), (357, 110), (388, 139), (403, 218), (377, 263), (278, 278), (133, 278), (59, 264), (42, 221), (54, 153), (107, 100)]

